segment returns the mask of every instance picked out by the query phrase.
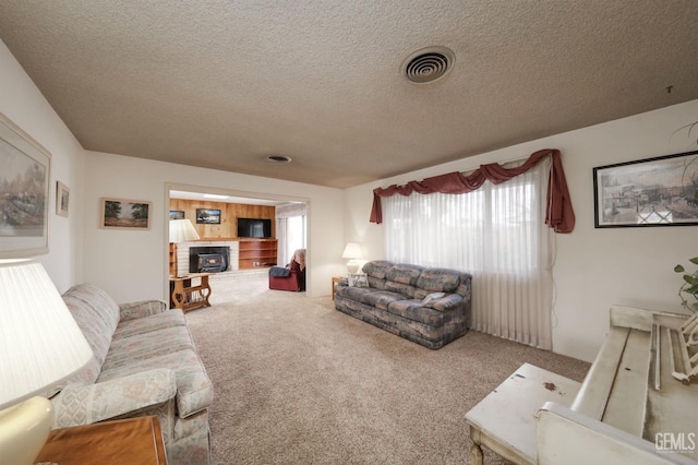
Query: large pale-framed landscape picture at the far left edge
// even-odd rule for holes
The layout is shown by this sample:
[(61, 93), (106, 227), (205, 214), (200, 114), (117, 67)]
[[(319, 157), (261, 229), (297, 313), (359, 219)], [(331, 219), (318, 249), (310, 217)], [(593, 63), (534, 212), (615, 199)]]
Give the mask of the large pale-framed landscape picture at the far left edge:
[(48, 252), (51, 154), (0, 114), (0, 258)]

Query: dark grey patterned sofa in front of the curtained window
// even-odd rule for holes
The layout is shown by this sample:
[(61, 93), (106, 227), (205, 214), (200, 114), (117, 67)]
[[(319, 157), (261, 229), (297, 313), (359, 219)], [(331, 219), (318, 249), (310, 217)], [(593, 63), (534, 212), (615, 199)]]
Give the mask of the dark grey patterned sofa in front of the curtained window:
[(472, 275), (387, 261), (363, 272), (366, 279), (337, 283), (337, 310), (432, 349), (468, 331)]

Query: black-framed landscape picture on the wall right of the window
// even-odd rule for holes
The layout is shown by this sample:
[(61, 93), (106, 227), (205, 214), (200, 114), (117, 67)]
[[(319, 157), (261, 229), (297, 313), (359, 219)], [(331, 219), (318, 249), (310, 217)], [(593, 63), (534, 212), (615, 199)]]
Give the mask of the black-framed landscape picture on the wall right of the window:
[(698, 225), (698, 151), (593, 168), (597, 228)]

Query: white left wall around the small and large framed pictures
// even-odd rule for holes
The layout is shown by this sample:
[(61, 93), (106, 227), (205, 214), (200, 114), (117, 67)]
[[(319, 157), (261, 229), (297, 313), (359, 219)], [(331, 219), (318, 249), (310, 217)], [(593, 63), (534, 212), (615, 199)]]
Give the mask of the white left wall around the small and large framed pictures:
[[(81, 274), (81, 189), (84, 151), (7, 46), (0, 41), (0, 111), (51, 154), (49, 252), (36, 257), (59, 291)], [(0, 168), (1, 169), (1, 168)], [(70, 189), (69, 217), (56, 215), (56, 181)]]

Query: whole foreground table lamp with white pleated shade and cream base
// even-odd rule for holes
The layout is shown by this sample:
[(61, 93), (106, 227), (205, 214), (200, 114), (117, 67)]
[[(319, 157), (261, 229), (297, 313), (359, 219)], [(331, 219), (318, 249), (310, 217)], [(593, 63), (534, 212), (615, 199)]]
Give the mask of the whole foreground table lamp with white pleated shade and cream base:
[(53, 422), (41, 396), (93, 357), (44, 267), (0, 260), (0, 464), (33, 464)]

